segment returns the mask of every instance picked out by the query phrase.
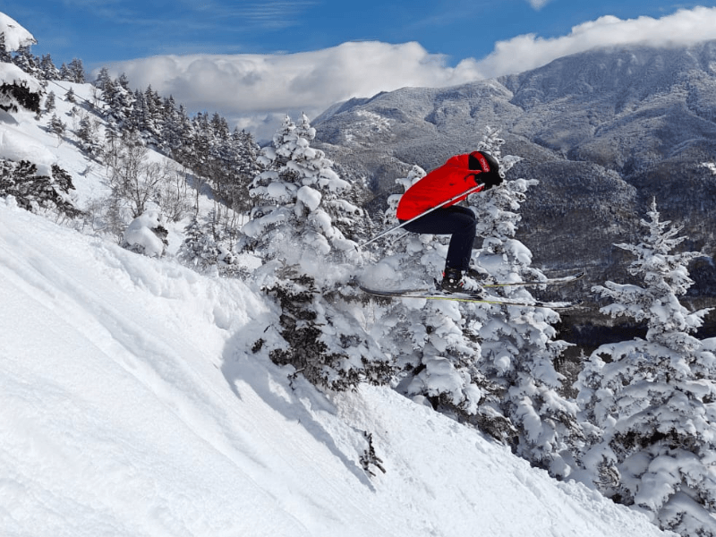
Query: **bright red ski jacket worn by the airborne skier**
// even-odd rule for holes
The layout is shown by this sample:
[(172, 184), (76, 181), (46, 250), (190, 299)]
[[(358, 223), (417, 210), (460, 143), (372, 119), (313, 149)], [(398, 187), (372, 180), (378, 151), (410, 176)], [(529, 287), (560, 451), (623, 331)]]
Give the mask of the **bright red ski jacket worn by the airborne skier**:
[[(445, 164), (413, 184), (397, 204), (397, 219), (410, 220), (480, 184), (477, 175), (482, 172), (468, 167), (469, 157), (469, 154), (465, 154), (449, 158)], [(487, 169), (490, 167), (487, 166)], [(465, 198), (467, 195), (448, 203), (445, 207), (455, 205)]]

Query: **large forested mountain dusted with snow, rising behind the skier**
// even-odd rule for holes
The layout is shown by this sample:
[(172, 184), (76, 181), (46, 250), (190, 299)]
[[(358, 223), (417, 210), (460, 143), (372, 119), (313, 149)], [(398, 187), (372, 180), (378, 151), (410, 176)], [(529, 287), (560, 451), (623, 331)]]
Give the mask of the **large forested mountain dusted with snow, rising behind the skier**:
[[(541, 181), (521, 240), (541, 267), (589, 268), (584, 293), (624, 268), (612, 245), (635, 236), (654, 196), (689, 247), (713, 255), (715, 66), (716, 42), (596, 49), (499, 80), (355, 99), (314, 124), (338, 162), (371, 179), (379, 207), (410, 166), (439, 166), (486, 125), (500, 129), (505, 152), (524, 158), (514, 176)], [(712, 296), (712, 266), (697, 262), (694, 276), (692, 295)]]

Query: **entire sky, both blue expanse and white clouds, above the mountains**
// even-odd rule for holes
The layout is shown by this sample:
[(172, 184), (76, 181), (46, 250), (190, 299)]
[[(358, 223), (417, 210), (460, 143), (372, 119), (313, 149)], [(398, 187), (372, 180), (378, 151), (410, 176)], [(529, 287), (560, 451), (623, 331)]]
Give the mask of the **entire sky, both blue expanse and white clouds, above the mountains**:
[(716, 2), (667, 0), (0, 0), (0, 12), (57, 65), (108, 66), (255, 132), (346, 98), (523, 72), (591, 47), (716, 38)]

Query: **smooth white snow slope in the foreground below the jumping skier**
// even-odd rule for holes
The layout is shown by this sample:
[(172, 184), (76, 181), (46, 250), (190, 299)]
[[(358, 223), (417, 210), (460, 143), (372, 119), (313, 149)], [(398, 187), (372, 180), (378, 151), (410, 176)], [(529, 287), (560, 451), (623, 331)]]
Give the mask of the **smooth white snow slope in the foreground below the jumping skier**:
[(661, 534), (389, 388), (292, 388), (247, 348), (275, 314), (249, 286), (12, 198), (0, 304), (2, 535)]

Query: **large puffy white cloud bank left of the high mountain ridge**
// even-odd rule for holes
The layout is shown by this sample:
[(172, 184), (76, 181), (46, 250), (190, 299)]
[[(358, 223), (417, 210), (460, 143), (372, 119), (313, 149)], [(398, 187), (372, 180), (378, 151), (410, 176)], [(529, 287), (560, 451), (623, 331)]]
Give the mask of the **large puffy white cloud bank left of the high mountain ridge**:
[(405, 86), (449, 86), (481, 77), (474, 64), (449, 67), (417, 43), (350, 42), (286, 55), (161, 55), (109, 66), (132, 85), (151, 85), (190, 110), (218, 111), (251, 131), (272, 115), (315, 116), (353, 97)]

